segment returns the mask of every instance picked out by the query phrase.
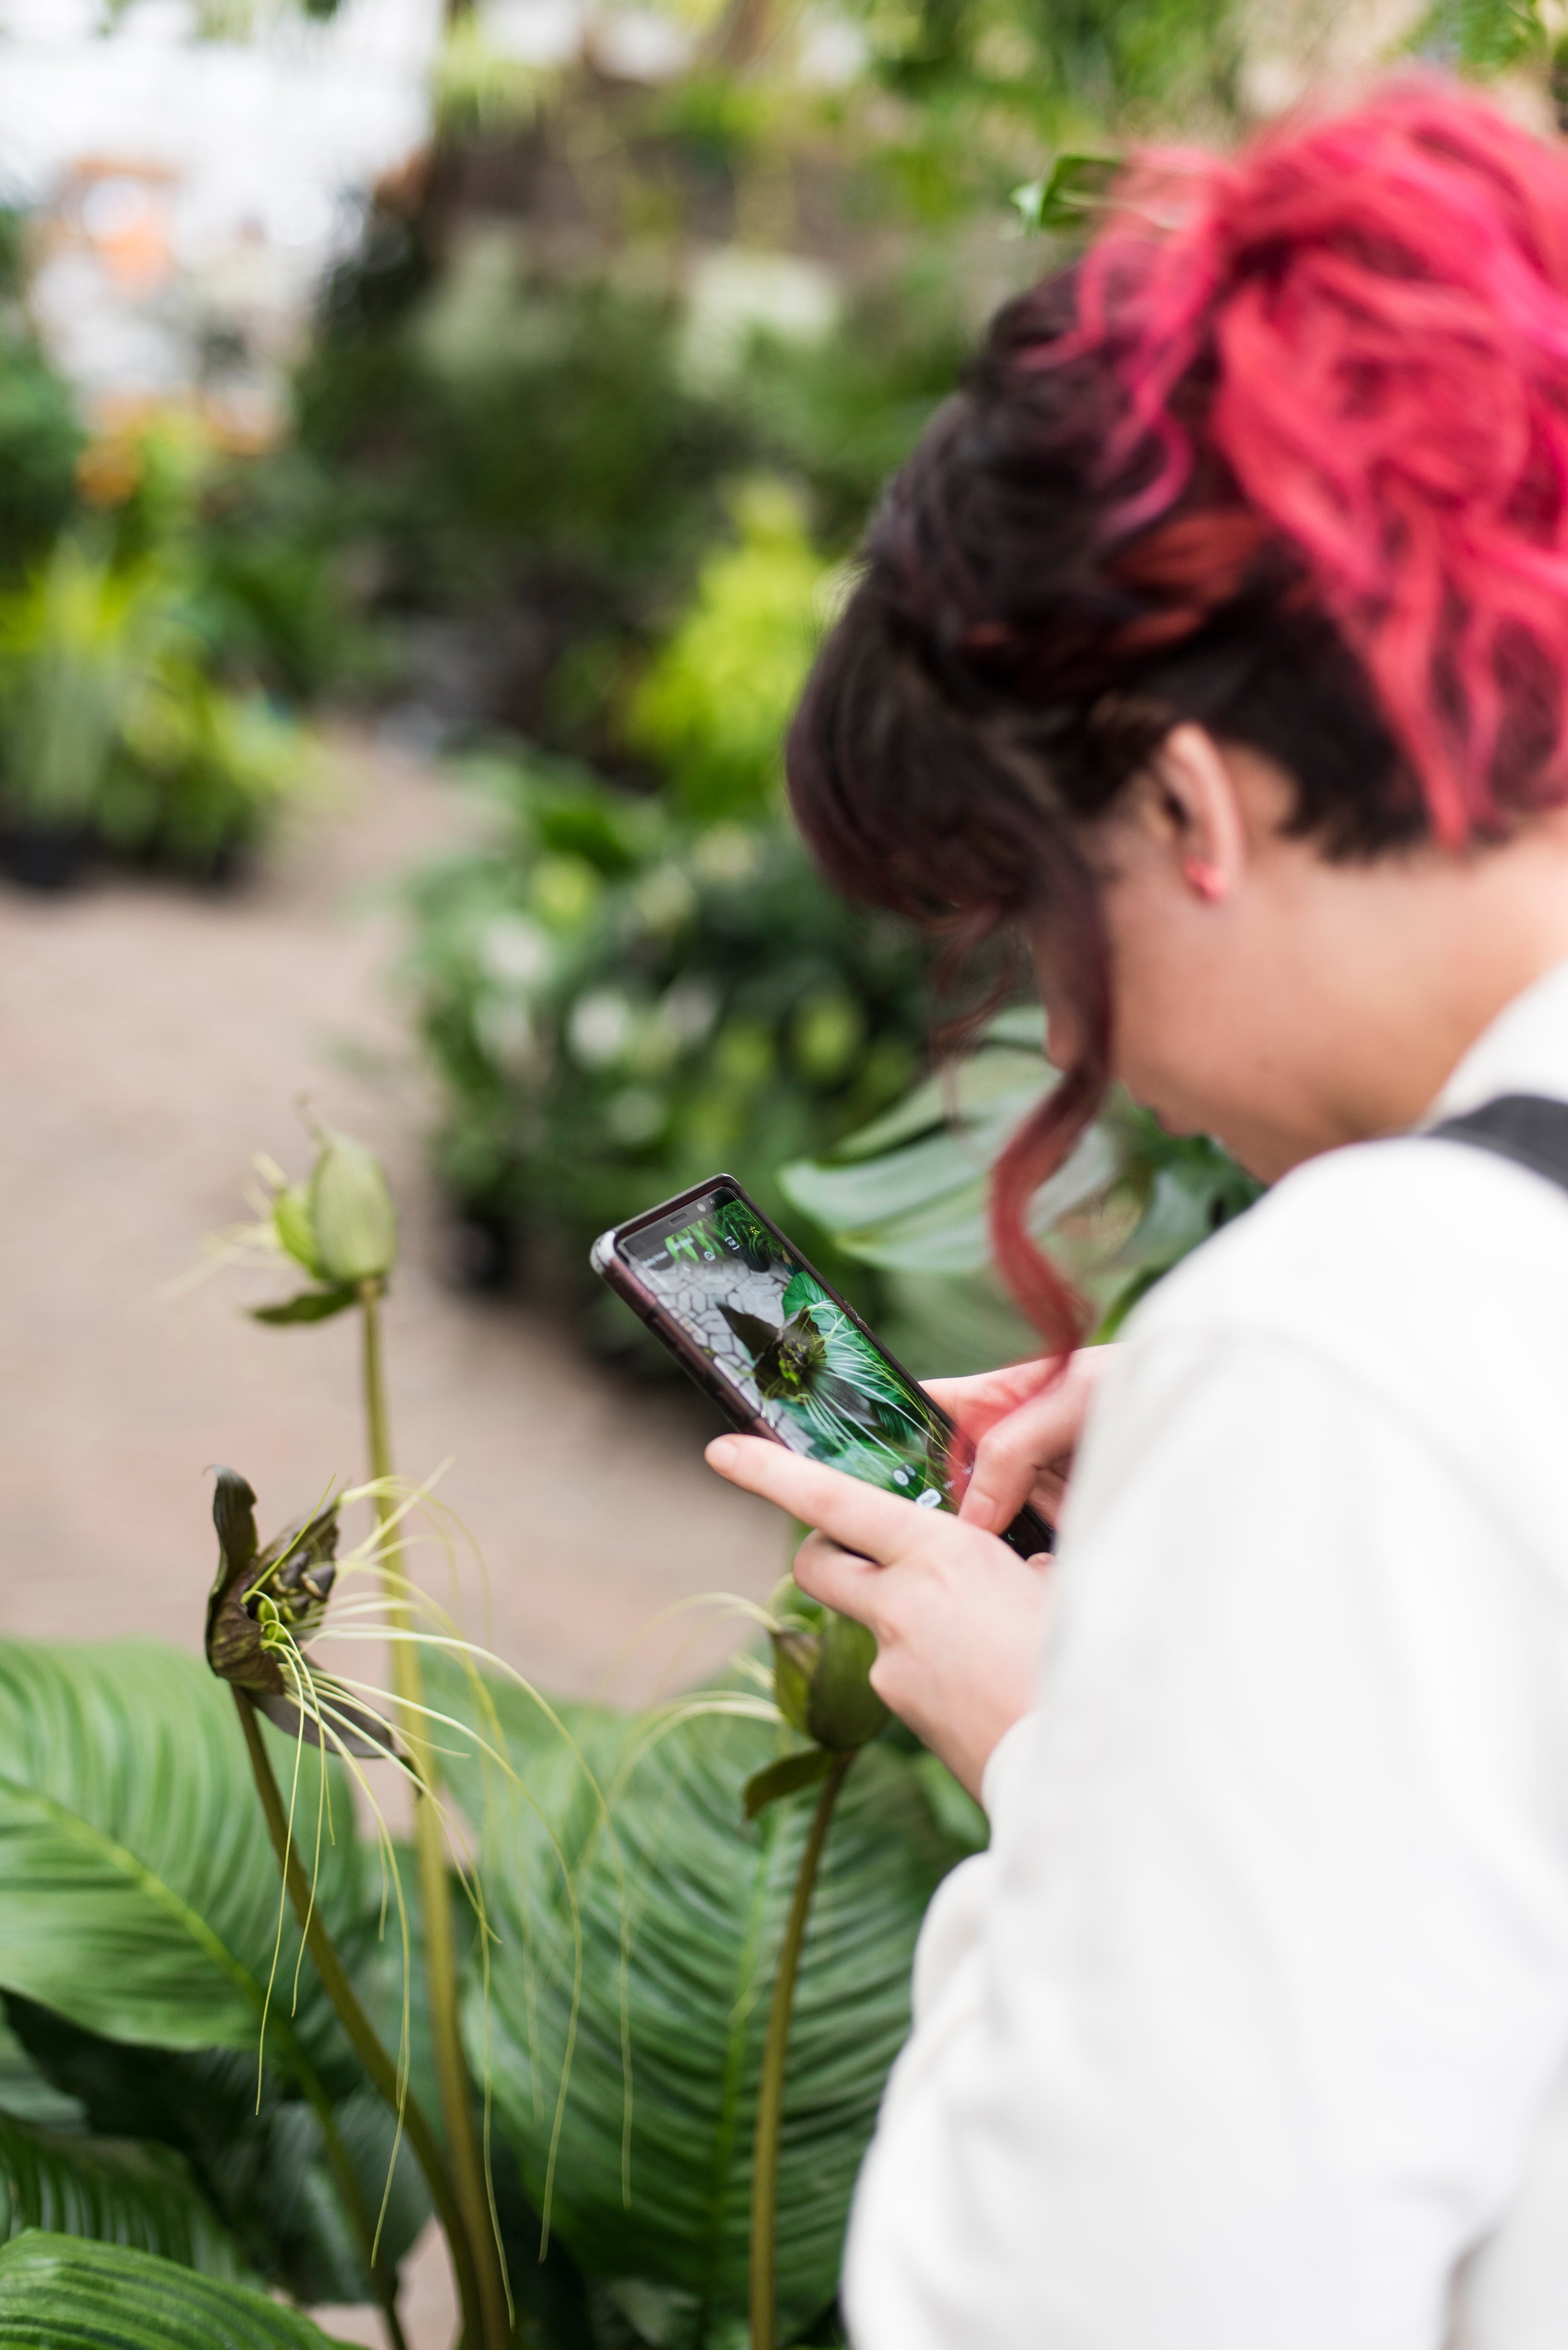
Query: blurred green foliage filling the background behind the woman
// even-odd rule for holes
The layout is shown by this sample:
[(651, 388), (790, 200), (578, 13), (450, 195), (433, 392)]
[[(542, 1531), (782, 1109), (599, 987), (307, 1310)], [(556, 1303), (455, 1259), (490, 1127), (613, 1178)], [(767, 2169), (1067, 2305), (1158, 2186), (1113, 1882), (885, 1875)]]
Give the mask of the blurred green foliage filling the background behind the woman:
[[(315, 787), (313, 717), (390, 714), (489, 811), (411, 884), (402, 973), (473, 1278), (637, 1351), (585, 1246), (729, 1166), (919, 1368), (1016, 1351), (971, 1196), (1009, 1116), (952, 1137), (969, 1241), (867, 1238), (931, 1123), (898, 1107), (926, 949), (818, 886), (780, 733), (879, 484), (1114, 155), (1410, 52), (1542, 125), (1568, 89), (1521, 0), (451, 5), (430, 143), (362, 202), (261, 439), (200, 400), (89, 416), (33, 317), (38, 223), (0, 216), (7, 870), (226, 879)], [(1103, 1243), (1110, 1311), (1180, 1168), (1121, 1112), (1098, 1147), (1063, 1246)]]

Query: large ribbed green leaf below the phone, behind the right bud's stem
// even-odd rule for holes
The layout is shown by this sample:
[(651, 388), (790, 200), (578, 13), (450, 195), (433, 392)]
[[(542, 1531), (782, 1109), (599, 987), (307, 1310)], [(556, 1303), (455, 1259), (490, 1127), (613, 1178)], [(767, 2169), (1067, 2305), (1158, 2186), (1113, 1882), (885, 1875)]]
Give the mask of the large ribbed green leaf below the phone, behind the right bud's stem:
[[(574, 1708), (571, 1727), (609, 1788), (611, 1840), (585, 1774), (541, 1734), (527, 1699), (498, 1692), (496, 1701), (512, 1760), (569, 1854), (583, 1929), (555, 2228), (644, 2341), (741, 2345), (762, 2035), (811, 1812), (811, 1798), (797, 1798), (748, 1824), (743, 1800), (748, 1779), (792, 1741), (712, 1713), (654, 1739), (651, 1718)], [(529, 1805), (494, 1770), (454, 1770), (480, 1824), (501, 1932), (489, 2019), (470, 2000), (470, 2047), (475, 2061), (489, 2054), (496, 2106), (538, 2204), (571, 2030), (569, 1904)], [(799, 2338), (835, 2296), (856, 2169), (907, 2030), (914, 1934), (957, 1852), (938, 1831), (919, 1765), (889, 1746), (867, 1748), (827, 1842), (790, 2042), (783, 2341)]]

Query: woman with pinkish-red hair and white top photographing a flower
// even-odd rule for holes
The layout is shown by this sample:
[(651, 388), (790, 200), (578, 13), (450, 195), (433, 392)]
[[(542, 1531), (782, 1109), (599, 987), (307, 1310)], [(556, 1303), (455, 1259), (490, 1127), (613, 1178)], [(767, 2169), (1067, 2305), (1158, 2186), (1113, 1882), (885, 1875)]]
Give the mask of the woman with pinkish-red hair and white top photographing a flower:
[(1568, 1102), (1566, 674), (1568, 162), (1439, 82), (1145, 162), (875, 524), (792, 797), (1034, 954), (1013, 1285), (1060, 1351), (1110, 1079), (1274, 1189), (1100, 1379), (943, 1391), (959, 1518), (712, 1445), (992, 1817), (858, 2350), (1568, 2343), (1568, 1191), (1422, 1133)]

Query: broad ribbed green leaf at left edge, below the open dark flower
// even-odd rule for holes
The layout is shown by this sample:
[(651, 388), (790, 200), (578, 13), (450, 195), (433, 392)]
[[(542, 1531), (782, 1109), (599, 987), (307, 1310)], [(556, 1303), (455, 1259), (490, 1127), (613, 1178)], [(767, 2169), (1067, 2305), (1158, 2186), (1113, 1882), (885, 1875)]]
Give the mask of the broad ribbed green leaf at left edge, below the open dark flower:
[[(292, 1746), (275, 1737), (289, 1784)], [(334, 1772), (336, 1777), (336, 1772)], [(299, 1831), (315, 1842), (315, 1758)], [(350, 1939), (364, 1913), (353, 1805), (334, 1791), (317, 1899)], [(153, 2047), (254, 2049), (277, 1936), (277, 1866), (228, 1690), (148, 1640), (0, 1643), (0, 1988)], [(284, 1920), (268, 2037), (334, 2056), (313, 1969), (289, 2019)]]

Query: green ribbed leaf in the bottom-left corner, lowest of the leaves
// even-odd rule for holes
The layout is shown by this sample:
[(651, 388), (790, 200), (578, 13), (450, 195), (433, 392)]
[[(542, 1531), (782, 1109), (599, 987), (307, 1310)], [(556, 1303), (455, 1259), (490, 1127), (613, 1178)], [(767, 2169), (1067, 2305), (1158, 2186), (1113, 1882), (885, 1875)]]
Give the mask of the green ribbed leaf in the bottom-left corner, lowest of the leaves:
[(331, 2350), (308, 2317), (242, 2284), (71, 2235), (0, 2247), (5, 2350)]

